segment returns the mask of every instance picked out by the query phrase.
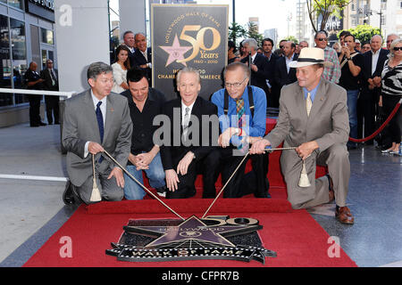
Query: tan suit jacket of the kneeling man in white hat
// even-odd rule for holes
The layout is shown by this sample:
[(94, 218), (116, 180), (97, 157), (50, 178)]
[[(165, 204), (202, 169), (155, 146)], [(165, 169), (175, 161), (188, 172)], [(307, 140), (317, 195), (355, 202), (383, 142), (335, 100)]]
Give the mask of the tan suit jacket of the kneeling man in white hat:
[[(265, 138), (271, 142), (272, 148), (283, 141), (284, 147), (316, 141), (319, 151), (325, 151), (334, 143), (348, 142), (348, 134), (346, 90), (321, 79), (308, 117), (302, 87), (295, 82), (282, 88), (278, 122)], [(295, 151), (288, 152), (293, 154)], [(295, 159), (300, 160), (297, 154)]]

